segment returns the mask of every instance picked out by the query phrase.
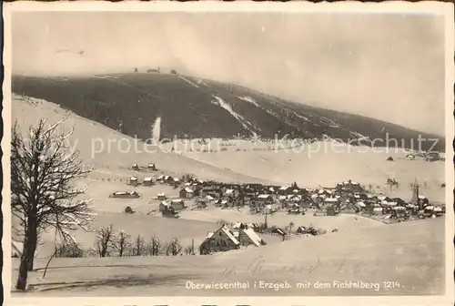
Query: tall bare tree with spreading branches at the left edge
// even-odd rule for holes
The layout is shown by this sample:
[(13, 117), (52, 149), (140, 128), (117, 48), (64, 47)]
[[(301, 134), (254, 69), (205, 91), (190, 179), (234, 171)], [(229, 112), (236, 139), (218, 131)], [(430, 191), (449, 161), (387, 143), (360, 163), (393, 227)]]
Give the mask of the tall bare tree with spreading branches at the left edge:
[(29, 134), (20, 133), (17, 122), (11, 137), (11, 209), (24, 237), (16, 289), (25, 290), (28, 270), (33, 270), (40, 233), (54, 228), (61, 236), (92, 220), (90, 200), (76, 200), (85, 189), (75, 179), (90, 171), (82, 165), (68, 139), (73, 134), (57, 131), (61, 121), (45, 127), (41, 119)]

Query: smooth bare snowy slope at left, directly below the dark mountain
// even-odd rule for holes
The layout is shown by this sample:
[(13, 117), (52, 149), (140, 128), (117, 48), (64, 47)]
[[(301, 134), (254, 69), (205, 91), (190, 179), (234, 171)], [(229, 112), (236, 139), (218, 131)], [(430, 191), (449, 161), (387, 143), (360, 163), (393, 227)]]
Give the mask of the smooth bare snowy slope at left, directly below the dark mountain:
[[(48, 124), (54, 124), (66, 117), (64, 122), (66, 130), (75, 128), (68, 141), (72, 148), (79, 151), (80, 158), (87, 165), (95, 168), (91, 176), (96, 179), (127, 179), (136, 173), (131, 169), (128, 170), (133, 163), (144, 166), (148, 163), (156, 163), (158, 169), (163, 169), (163, 173), (178, 177), (188, 173), (200, 179), (269, 183), (265, 179), (251, 178), (225, 168), (217, 168), (181, 155), (150, 148), (141, 142), (136, 142), (134, 138), (126, 137), (111, 128), (77, 116), (54, 103), (16, 95), (13, 97), (12, 122), (17, 121), (23, 132), (26, 133), (28, 127), (35, 125), (42, 117), (46, 118)], [(130, 149), (126, 150), (126, 145)]]

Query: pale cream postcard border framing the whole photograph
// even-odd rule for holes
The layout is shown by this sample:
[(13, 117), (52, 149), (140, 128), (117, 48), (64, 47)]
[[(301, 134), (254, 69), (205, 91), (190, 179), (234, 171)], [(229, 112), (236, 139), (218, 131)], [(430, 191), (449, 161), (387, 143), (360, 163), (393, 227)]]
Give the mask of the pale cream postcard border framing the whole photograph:
[[(414, 12), (415, 14), (437, 14), (445, 17), (445, 36), (446, 36), (446, 294), (445, 296), (402, 296), (402, 297), (147, 297), (147, 298), (36, 298), (36, 297), (11, 297), (11, 257), (4, 256), (4, 270), (2, 274), (5, 304), (7, 305), (448, 305), (454, 301), (454, 249), (452, 239), (454, 237), (454, 214), (452, 189), (454, 186), (454, 170), (451, 161), (453, 156), (452, 139), (454, 138), (455, 125), (453, 121), (453, 84), (454, 84), (454, 47), (455, 47), (455, 30), (454, 30), (454, 5), (451, 3), (440, 2), (383, 2), (383, 3), (361, 3), (361, 2), (341, 2), (341, 3), (308, 3), (308, 2), (288, 2), (288, 3), (256, 3), (249, 1), (241, 1), (235, 3), (222, 3), (217, 1), (201, 1), (201, 2), (136, 2), (127, 1), (122, 3), (110, 2), (15, 2), (6, 3), (4, 6), (4, 22), (5, 22), (5, 44), (4, 44), (4, 66), (5, 80), (3, 84), (4, 94), (4, 137), (2, 139), (2, 148), (4, 156), (2, 159), (4, 170), (4, 188), (2, 196), (4, 205), (2, 208), (7, 208), (10, 202), (10, 139), (11, 139), (11, 14), (13, 12), (29, 12), (29, 11), (110, 11), (110, 12), (283, 12), (283, 13), (358, 13), (358, 14), (400, 14), (402, 12)], [(2, 247), (4, 254), (11, 251), (11, 211), (3, 209), (4, 213), (4, 236)], [(25, 294), (26, 295), (26, 294)]]

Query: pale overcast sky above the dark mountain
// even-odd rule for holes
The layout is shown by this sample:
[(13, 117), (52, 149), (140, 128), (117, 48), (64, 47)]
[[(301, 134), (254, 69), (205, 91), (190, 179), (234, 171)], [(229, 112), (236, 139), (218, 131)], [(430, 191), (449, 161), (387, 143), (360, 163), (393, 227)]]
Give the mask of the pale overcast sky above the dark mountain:
[(444, 20), (432, 15), (15, 13), (13, 54), (14, 74), (160, 66), (444, 134)]

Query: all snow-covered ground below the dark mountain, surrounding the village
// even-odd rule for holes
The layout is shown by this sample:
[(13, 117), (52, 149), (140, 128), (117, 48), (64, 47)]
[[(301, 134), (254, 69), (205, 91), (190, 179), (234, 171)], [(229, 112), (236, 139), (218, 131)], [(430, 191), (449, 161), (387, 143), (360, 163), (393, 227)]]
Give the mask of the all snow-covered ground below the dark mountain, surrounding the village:
[[(385, 181), (394, 178), (399, 181), (400, 188), (393, 193), (404, 199), (410, 199), (409, 185), (418, 179), (423, 186), (422, 193), (430, 201), (444, 199), (444, 189), (440, 188), (444, 182), (443, 163), (405, 160), (405, 153), (360, 153), (352, 148), (349, 153), (313, 150), (314, 154), (308, 157), (305, 152), (254, 150), (248, 146), (217, 153), (187, 151), (179, 154), (160, 150), (151, 153), (140, 143), (134, 148), (133, 138), (86, 118), (69, 114), (54, 104), (34, 99), (25, 101), (21, 97), (15, 97), (13, 101), (13, 122), (16, 119), (24, 130), (35, 124), (39, 117), (46, 117), (51, 124), (65, 114), (69, 116), (66, 128), (76, 128), (71, 143), (80, 151), (81, 158), (94, 168), (88, 179), (78, 182), (86, 186), (87, 196), (93, 199), (96, 210), (92, 224), (94, 229), (112, 223), (116, 230), (126, 230), (133, 236), (141, 234), (149, 238), (156, 235), (161, 240), (178, 238), (186, 246), (191, 240), (200, 243), (207, 231), (216, 230), (216, 221), (219, 219), (230, 222), (263, 222), (263, 216), (250, 215), (236, 209), (187, 210), (181, 213), (180, 219), (147, 215), (147, 211), (157, 209), (158, 202), (154, 198), (158, 192), (177, 197), (178, 189), (161, 185), (134, 188), (141, 194), (140, 199), (108, 199), (108, 195), (114, 191), (133, 190), (126, 185), (126, 180), (137, 174), (127, 169), (133, 163), (143, 166), (150, 162), (156, 163), (159, 171), (154, 175), (166, 173), (180, 176), (189, 173), (199, 179), (231, 182), (288, 185), (297, 181), (301, 186), (317, 187), (334, 186), (339, 181), (352, 179), (367, 187), (370, 184), (373, 189), (384, 193), (392, 192), (386, 188)], [(236, 146), (247, 143), (232, 141)], [(126, 149), (127, 143), (133, 147)], [(395, 160), (386, 161), (389, 156)], [(139, 176), (141, 178), (148, 174)], [(126, 215), (123, 213), (126, 206), (137, 213)], [(339, 229), (339, 233), (296, 238), (258, 249), (229, 251), (213, 256), (57, 259), (53, 261), (45, 280), (41, 279), (42, 270), (37, 270), (32, 272), (30, 283), (36, 286), (36, 290), (49, 290), (35, 291), (35, 294), (47, 296), (277, 294), (273, 290), (252, 288), (248, 291), (188, 291), (185, 288), (187, 280), (250, 283), (254, 280), (288, 280), (292, 283), (334, 279), (399, 280), (403, 288), (380, 290), (374, 294), (440, 293), (444, 268), (443, 219), (386, 226), (372, 219), (352, 215), (314, 217), (312, 214), (293, 216), (276, 213), (268, 216), (269, 224), (281, 227), (287, 226), (291, 221), (296, 226), (313, 224), (327, 230)], [(95, 240), (94, 233), (77, 231), (74, 235), (86, 248), (92, 246)], [(267, 238), (264, 239), (268, 241)], [(35, 265), (38, 269), (45, 266), (46, 258), (54, 250), (53, 241), (53, 234), (46, 234), (45, 244), (38, 249)], [(264, 260), (262, 272), (260, 269), (252, 272), (251, 265), (256, 264), (254, 262), (258, 259)], [(17, 262), (13, 263), (15, 280)], [(308, 267), (314, 269), (308, 272)], [(223, 273), (226, 270), (230, 272)], [(40, 283), (48, 285), (40, 287)], [(52, 288), (55, 290), (50, 290)], [(118, 288), (122, 290), (119, 291)], [(371, 291), (297, 288), (279, 293), (373, 294)]]

